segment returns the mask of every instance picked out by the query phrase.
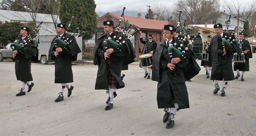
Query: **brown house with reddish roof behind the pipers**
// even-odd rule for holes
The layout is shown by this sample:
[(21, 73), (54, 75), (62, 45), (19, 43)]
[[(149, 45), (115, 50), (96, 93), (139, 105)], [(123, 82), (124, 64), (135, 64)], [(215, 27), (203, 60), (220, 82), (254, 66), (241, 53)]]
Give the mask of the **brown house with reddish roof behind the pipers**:
[[(97, 19), (98, 30), (102, 30), (100, 28), (103, 27), (103, 22), (106, 20), (112, 20), (114, 22), (114, 25), (117, 26), (119, 23), (120, 16), (121, 16), (120, 14), (116, 14), (116, 13), (106, 13), (105, 15), (101, 16), (100, 18)], [(168, 25), (169, 23), (168, 21), (141, 18), (140, 13), (138, 13), (137, 17), (124, 16), (122, 18), (122, 21), (120, 22), (120, 26), (122, 29), (124, 29), (125, 27), (125, 22), (127, 22), (127, 26), (129, 26), (130, 24), (133, 25), (132, 27), (130, 27), (131, 29), (133, 29), (132, 31), (136, 29), (140, 29), (143, 32), (143, 40), (146, 40), (149, 34), (153, 34), (153, 39), (158, 44), (161, 44), (163, 42), (163, 37), (162, 37), (163, 26)], [(129, 34), (131, 34), (132, 31)], [(101, 32), (98, 31), (96, 36), (99, 35), (100, 33), (102, 33), (102, 31)], [(140, 34), (136, 33), (134, 37), (130, 38), (130, 40), (134, 43), (136, 56), (139, 56), (140, 53), (138, 52), (138, 47), (140, 47), (140, 49), (143, 49), (143, 46), (144, 46), (142, 43), (140, 43)]]

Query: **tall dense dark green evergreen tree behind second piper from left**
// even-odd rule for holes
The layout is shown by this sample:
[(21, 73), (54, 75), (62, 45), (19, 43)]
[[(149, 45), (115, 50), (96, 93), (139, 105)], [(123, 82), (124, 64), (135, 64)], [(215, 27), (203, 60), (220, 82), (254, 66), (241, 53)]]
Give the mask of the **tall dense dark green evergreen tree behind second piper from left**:
[(71, 17), (75, 18), (69, 31), (79, 28), (80, 32), (85, 31), (83, 38), (91, 39), (96, 29), (96, 4), (94, 0), (60, 0), (59, 18), (61, 23), (68, 26)]

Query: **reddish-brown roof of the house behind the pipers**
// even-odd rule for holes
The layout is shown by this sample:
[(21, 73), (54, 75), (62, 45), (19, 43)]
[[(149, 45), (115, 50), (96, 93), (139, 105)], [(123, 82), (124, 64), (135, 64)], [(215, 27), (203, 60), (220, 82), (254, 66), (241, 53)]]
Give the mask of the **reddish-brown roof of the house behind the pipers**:
[[(111, 15), (118, 19), (121, 16), (120, 14), (116, 14), (116, 13), (106, 13), (104, 16), (98, 18), (98, 20), (100, 20), (101, 18), (104, 18), (107, 15)], [(164, 25), (168, 25), (168, 21), (152, 20), (152, 19), (138, 18), (138, 17), (133, 17), (133, 16), (125, 16), (125, 20), (128, 20), (128, 22), (130, 24), (132, 24), (135, 27), (138, 27), (140, 29), (162, 30)]]

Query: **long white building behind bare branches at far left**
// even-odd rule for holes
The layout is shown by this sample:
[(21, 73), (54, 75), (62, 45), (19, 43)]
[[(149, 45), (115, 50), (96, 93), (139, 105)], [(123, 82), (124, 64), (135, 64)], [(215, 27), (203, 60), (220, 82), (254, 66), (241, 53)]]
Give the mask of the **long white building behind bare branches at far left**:
[[(57, 19), (57, 23), (60, 23), (58, 15), (53, 15)], [(10, 10), (0, 10), (0, 21), (1, 22), (20, 22), (28, 23), (32, 22), (31, 14), (28, 12), (21, 11), (10, 11)], [(36, 24), (43, 22), (39, 34), (48, 35), (56, 34), (56, 29), (50, 14), (36, 13)]]

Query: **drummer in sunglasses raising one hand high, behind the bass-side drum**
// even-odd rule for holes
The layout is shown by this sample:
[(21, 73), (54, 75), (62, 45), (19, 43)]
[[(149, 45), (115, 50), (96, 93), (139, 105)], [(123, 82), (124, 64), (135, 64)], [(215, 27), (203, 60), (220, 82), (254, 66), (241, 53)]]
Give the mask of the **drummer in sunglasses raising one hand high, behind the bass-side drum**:
[[(144, 47), (143, 47), (143, 50), (142, 50), (142, 54), (154, 54), (154, 52), (156, 51), (156, 42), (153, 40), (153, 35), (150, 34), (148, 37), (147, 37), (147, 40), (143, 40), (142, 38), (143, 36), (143, 33), (142, 31), (140, 31), (140, 42), (143, 43)], [(141, 63), (140, 63), (140, 67), (141, 67)], [(145, 76), (144, 78), (147, 78), (147, 79), (150, 79), (150, 74), (151, 74), (151, 69), (152, 67), (147, 67), (147, 68), (143, 68), (144, 71), (145, 71)]]

